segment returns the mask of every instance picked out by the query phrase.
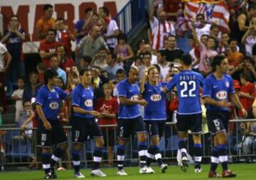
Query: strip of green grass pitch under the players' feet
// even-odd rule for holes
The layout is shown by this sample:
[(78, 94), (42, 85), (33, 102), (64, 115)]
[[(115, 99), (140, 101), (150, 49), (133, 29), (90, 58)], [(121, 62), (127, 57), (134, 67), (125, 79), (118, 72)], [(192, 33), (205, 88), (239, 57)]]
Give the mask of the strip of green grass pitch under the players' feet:
[[(155, 174), (139, 174), (139, 167), (126, 167), (128, 176), (117, 176), (117, 169), (102, 169), (107, 177), (100, 178), (96, 176), (90, 176), (90, 169), (82, 169), (82, 174), (85, 175), (85, 179), (118, 179), (118, 180), (201, 180), (208, 179), (209, 165), (203, 165), (203, 171), (201, 173), (194, 173), (193, 166), (190, 166), (185, 173), (181, 171), (178, 166), (169, 166), (165, 174), (161, 174), (159, 167), (153, 167)], [(235, 180), (256, 180), (256, 164), (230, 164), (229, 168), (236, 174)], [(221, 171), (221, 165), (219, 164), (218, 172)], [(73, 171), (56, 171), (58, 179), (75, 179), (73, 178)], [(0, 171), (0, 179), (8, 180), (36, 180), (43, 179), (43, 171)]]

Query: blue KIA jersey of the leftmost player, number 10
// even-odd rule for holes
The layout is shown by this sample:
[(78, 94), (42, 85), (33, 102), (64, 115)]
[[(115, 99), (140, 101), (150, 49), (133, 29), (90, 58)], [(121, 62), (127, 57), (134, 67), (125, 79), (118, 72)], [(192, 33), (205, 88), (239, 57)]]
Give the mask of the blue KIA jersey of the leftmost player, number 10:
[(58, 111), (62, 100), (68, 98), (68, 93), (57, 86), (50, 91), (47, 86), (42, 86), (36, 96), (36, 104), (42, 106), (43, 114), (47, 120), (58, 120)]

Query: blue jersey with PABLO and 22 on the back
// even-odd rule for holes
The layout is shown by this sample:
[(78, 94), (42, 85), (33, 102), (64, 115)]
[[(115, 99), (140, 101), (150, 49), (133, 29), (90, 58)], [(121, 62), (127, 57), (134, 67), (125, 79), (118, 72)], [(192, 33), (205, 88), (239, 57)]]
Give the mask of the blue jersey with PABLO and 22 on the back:
[(176, 86), (178, 91), (178, 113), (201, 113), (199, 89), (203, 86), (203, 76), (192, 70), (184, 70), (176, 74), (166, 85), (167, 91)]

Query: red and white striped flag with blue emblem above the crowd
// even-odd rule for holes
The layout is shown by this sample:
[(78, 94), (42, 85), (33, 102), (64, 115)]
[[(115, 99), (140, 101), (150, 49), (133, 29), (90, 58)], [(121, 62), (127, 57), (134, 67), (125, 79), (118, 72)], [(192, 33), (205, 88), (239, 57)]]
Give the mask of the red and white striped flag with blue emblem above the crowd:
[(228, 21), (230, 13), (225, 1), (213, 0), (185, 0), (185, 16), (189, 19), (195, 19), (196, 14), (202, 13), (206, 21), (216, 23), (221, 31), (229, 31)]

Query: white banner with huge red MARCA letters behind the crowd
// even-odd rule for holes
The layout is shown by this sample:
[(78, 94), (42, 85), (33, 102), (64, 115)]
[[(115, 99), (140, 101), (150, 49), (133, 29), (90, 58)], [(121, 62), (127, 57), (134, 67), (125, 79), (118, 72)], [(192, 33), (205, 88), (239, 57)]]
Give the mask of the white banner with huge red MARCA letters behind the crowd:
[[(53, 5), (53, 18), (63, 18), (65, 24), (68, 25), (70, 32), (74, 32), (75, 22), (80, 18), (84, 18), (84, 11), (87, 8), (97, 9), (106, 6), (110, 10), (111, 16), (115, 16), (129, 0), (18, 0), (18, 1), (1, 1), (0, 12), (3, 26), (0, 29), (8, 28), (9, 17), (16, 14), (19, 17), (21, 28), (26, 32), (26, 41), (36, 42), (36, 22), (43, 15), (43, 6), (45, 4)], [(1, 22), (0, 22), (1, 24)], [(24, 43), (25, 46), (28, 45)], [(35, 45), (33, 45), (35, 46)], [(32, 47), (31, 47), (32, 48)], [(34, 47), (33, 47), (34, 49)], [(29, 48), (24, 49), (25, 52), (34, 52)]]

